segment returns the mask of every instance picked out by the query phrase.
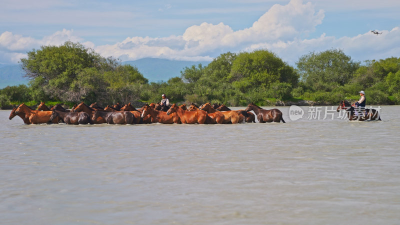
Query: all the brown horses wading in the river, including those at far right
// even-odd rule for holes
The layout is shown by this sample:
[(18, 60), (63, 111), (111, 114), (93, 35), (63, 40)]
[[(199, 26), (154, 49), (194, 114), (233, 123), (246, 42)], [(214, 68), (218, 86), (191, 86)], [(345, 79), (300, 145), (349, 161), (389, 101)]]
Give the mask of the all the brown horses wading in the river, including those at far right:
[[(355, 116), (354, 108), (347, 101), (341, 101), (337, 107), (345, 110), (350, 120), (380, 120), (375, 109), (367, 109), (363, 116)], [(253, 111), (254, 113), (252, 113)], [(255, 114), (255, 115), (254, 115)], [(40, 102), (37, 109), (32, 109), (22, 103), (13, 108), (9, 115), (12, 119), (18, 115), (25, 124), (59, 123), (66, 124), (141, 124), (141, 123), (199, 123), (199, 124), (222, 124), (222, 123), (243, 123), (255, 122), (255, 116), (261, 123), (264, 122), (285, 122), (282, 112), (277, 109), (263, 109), (254, 103), (249, 103), (243, 110), (231, 110), (224, 104), (210, 104), (209, 102), (197, 106), (191, 103), (172, 104), (166, 108), (159, 103), (144, 104), (136, 109), (131, 103), (119, 105), (119, 103), (106, 107), (99, 106), (96, 102), (86, 105), (83, 101), (66, 109), (60, 104), (51, 108), (44, 102)]]

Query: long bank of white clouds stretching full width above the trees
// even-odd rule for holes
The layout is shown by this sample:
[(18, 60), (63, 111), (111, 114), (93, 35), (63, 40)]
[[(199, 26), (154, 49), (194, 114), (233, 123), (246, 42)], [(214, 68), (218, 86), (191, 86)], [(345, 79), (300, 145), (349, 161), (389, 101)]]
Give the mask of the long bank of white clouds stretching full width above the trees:
[(310, 2), (291, 0), (286, 5), (275, 4), (253, 22), (251, 27), (233, 30), (229, 25), (203, 22), (186, 28), (182, 35), (167, 37), (133, 36), (120, 42), (95, 45), (82, 42), (73, 30), (63, 29), (42, 39), (13, 34), (0, 34), (0, 62), (15, 63), (26, 51), (40, 45), (62, 44), (66, 40), (79, 41), (102, 56), (121, 60), (157, 57), (179, 60), (212, 60), (221, 53), (251, 51), (266, 48), (284, 61), (294, 64), (299, 56), (309, 51), (341, 48), (355, 60), (379, 59), (400, 54), (400, 29), (380, 30), (380, 35), (365, 32), (352, 37), (326, 36), (304, 38), (315, 32), (323, 22), (324, 11), (316, 10)]

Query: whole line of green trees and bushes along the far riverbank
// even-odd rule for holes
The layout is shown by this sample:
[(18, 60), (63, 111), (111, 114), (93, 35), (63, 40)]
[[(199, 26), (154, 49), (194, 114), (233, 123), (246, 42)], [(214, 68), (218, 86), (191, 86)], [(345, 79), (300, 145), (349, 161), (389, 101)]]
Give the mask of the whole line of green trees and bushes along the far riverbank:
[(0, 89), (0, 108), (40, 101), (140, 104), (157, 102), (162, 93), (171, 102), (229, 106), (300, 100), (337, 104), (358, 99), (361, 89), (368, 104), (400, 104), (400, 57), (361, 64), (335, 48), (302, 55), (296, 68), (267, 49), (226, 52), (206, 66), (182, 68), (180, 77), (162, 82), (148, 82), (136, 67), (71, 41), (32, 49), (20, 65), (30, 81)]

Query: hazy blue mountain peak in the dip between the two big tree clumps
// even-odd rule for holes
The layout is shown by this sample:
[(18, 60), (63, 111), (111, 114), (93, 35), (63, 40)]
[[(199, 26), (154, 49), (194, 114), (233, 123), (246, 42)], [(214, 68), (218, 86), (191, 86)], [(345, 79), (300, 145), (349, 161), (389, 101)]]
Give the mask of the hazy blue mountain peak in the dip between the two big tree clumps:
[(210, 61), (179, 61), (162, 58), (141, 58), (134, 61), (123, 61), (122, 64), (136, 66), (144, 77), (151, 81), (167, 81), (171, 77), (180, 76), (180, 71), (184, 67), (206, 66)]

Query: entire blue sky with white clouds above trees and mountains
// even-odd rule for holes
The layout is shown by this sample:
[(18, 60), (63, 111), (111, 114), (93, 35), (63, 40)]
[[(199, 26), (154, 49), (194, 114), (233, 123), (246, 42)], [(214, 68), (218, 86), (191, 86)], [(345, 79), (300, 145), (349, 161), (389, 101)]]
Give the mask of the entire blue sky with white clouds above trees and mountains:
[(398, 0), (0, 0), (0, 63), (67, 40), (121, 61), (268, 49), (295, 65), (340, 48), (363, 62), (400, 56), (399, 11)]

